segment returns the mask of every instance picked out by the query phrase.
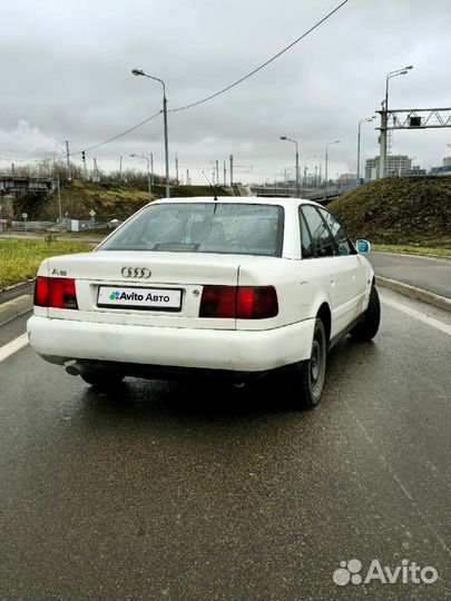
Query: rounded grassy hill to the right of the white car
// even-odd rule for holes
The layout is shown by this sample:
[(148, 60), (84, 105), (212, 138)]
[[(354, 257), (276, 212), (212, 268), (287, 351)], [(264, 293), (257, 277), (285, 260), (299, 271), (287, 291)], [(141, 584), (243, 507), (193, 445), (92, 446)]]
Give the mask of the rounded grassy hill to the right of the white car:
[(341, 196), (327, 209), (354, 239), (437, 248), (451, 244), (448, 176), (378, 179)]

